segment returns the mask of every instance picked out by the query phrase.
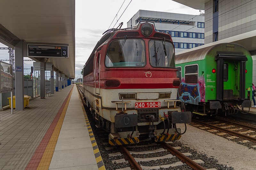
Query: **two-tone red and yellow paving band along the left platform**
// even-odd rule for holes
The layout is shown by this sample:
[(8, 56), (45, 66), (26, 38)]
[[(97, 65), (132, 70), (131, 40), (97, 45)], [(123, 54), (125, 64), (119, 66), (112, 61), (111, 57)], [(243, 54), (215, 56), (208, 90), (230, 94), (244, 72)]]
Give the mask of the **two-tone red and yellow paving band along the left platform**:
[(52, 160), (52, 155), (60, 134), (60, 129), (61, 129), (64, 117), (66, 115), (68, 103), (71, 98), (73, 88), (74, 86), (68, 93), (67, 98), (65, 99), (62, 106), (60, 107), (59, 112), (53, 119), (52, 124), (50, 125), (49, 129), (45, 133), (33, 157), (30, 159), (26, 167), (26, 170), (36, 170), (36, 169), (48, 170), (49, 169), (49, 166)]

